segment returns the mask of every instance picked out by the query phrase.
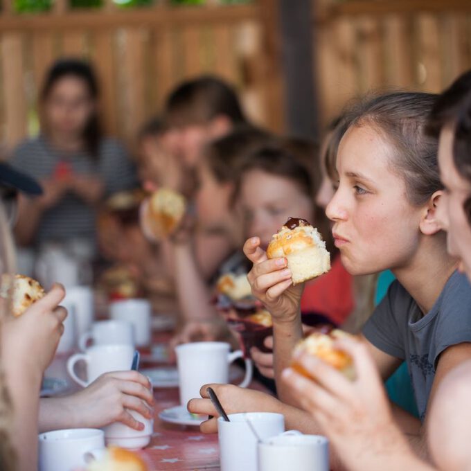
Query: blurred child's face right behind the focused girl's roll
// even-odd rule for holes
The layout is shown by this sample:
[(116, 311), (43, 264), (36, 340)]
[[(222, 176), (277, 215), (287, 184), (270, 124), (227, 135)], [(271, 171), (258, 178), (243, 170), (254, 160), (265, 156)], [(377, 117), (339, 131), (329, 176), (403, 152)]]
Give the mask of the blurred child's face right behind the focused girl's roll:
[(263, 249), (288, 217), (301, 217), (315, 224), (310, 197), (294, 181), (263, 170), (249, 170), (242, 176), (239, 202), (245, 236), (258, 236)]

